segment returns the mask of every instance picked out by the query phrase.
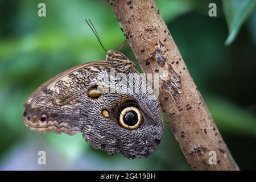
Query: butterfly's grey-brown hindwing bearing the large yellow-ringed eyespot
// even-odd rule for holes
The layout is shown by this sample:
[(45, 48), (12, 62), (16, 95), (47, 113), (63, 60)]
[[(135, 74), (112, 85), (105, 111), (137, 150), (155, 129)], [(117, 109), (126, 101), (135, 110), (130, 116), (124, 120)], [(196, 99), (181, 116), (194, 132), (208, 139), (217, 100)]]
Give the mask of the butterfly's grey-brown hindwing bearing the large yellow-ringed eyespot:
[[(159, 147), (162, 138), (159, 102), (137, 71), (130, 69), (125, 76), (122, 79), (110, 76), (112, 81), (105, 86), (113, 92), (86, 106), (90, 114), (84, 119), (82, 135), (94, 148), (111, 155), (121, 153), (129, 159), (147, 157)], [(102, 111), (108, 112), (107, 117)]]

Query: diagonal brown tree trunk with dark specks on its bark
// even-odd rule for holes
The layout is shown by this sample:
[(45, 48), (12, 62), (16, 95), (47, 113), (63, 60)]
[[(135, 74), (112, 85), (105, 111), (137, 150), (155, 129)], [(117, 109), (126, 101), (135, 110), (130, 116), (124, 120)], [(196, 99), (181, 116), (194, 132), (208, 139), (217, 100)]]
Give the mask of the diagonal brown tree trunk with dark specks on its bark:
[[(155, 2), (110, 0), (109, 3), (123, 32), (129, 35), (128, 42), (137, 60), (143, 61), (143, 72), (159, 73), (162, 110), (191, 168), (239, 170)], [(215, 165), (208, 162), (210, 151), (217, 154)]]

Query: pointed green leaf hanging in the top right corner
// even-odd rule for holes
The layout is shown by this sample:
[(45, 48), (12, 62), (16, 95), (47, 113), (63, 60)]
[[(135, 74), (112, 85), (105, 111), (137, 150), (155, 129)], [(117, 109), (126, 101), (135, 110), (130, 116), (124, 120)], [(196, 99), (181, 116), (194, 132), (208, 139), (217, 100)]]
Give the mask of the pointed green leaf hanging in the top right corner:
[(225, 45), (229, 46), (236, 38), (242, 24), (253, 13), (256, 0), (222, 0), (222, 5), (229, 28)]

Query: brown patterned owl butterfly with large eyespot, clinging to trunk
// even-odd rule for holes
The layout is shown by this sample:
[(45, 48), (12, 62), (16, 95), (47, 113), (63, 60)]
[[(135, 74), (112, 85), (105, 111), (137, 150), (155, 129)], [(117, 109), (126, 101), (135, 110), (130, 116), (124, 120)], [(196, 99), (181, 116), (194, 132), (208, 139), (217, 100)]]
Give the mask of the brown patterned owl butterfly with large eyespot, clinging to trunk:
[(108, 51), (105, 61), (81, 64), (51, 78), (24, 107), (23, 122), (33, 131), (81, 132), (94, 148), (129, 159), (149, 156), (162, 138), (158, 99), (118, 51)]

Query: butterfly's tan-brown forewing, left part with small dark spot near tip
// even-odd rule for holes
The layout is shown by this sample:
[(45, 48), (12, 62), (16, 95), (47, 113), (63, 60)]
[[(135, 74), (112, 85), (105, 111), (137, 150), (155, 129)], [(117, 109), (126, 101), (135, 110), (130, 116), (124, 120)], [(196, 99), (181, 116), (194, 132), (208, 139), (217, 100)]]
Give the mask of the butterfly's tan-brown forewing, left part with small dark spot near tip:
[(73, 135), (79, 132), (82, 103), (78, 98), (86, 97), (89, 79), (107, 65), (106, 61), (81, 64), (39, 86), (24, 104), (26, 126), (38, 133), (53, 131)]

